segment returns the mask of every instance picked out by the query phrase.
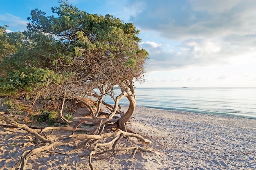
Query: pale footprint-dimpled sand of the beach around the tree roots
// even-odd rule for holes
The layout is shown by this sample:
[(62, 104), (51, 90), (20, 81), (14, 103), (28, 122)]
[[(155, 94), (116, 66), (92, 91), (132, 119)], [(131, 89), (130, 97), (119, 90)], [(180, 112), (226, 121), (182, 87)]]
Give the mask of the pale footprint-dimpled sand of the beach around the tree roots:
[[(95, 170), (255, 170), (256, 120), (137, 107), (129, 127), (152, 141), (151, 152), (93, 160)], [(3, 124), (3, 121), (0, 121)], [(57, 132), (55, 132), (57, 133)], [(0, 127), (0, 170), (14, 170), (35, 148), (21, 129)], [(127, 141), (124, 139), (124, 143)], [(28, 170), (88, 169), (86, 150), (61, 146), (33, 156)]]

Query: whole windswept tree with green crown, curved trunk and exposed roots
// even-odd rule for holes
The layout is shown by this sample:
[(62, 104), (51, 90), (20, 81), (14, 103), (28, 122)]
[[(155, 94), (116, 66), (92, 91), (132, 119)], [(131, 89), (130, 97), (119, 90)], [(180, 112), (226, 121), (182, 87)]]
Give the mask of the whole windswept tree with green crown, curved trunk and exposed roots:
[[(115, 143), (124, 136), (134, 136), (150, 143), (139, 135), (132, 135), (132, 130), (126, 127), (136, 106), (134, 82), (144, 81), (144, 64), (148, 56), (146, 50), (138, 45), (139, 30), (132, 23), (125, 23), (112, 15), (104, 17), (81, 11), (67, 1), (60, 1), (60, 6), (53, 7), (52, 12), (57, 17), (45, 16), (46, 13), (39, 9), (31, 11), (27, 31), (22, 34), (24, 39), (21, 49), (0, 63), (0, 68), (6, 70), (0, 77), (0, 95), (25, 95), (34, 100), (39, 97), (63, 98), (63, 104), (65, 99), (79, 99), (89, 107), (92, 118), (76, 122), (73, 130), (88, 122), (94, 124), (94, 130), (90, 137), (85, 135), (79, 138), (86, 140), (76, 148), (92, 144), (97, 146), (96, 139), (99, 135), (104, 129), (112, 127), (120, 129), (118, 134), (110, 133), (106, 137), (116, 137), (113, 139)], [(121, 94), (114, 98), (114, 89), (117, 86), (121, 88)], [(111, 95), (115, 100), (114, 106), (103, 102), (106, 95)], [(83, 97), (97, 99), (95, 113), (82, 100)], [(119, 101), (123, 97), (128, 98), (129, 108), (124, 114), (119, 112), (121, 117), (116, 117)], [(100, 116), (101, 104), (110, 109), (105, 117)], [(62, 109), (61, 121), (72, 124), (62, 116)], [(73, 140), (77, 138), (70, 139)], [(50, 143), (52, 146), (59, 146), (65, 142)], [(89, 157), (91, 169), (91, 156), (95, 154), (97, 153), (93, 150)]]

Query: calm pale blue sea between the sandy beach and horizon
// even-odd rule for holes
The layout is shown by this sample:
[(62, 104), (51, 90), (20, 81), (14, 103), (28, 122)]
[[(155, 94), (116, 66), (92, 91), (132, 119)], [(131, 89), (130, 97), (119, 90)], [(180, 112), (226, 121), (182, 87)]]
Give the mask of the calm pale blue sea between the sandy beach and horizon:
[(256, 88), (135, 88), (135, 94), (137, 106), (256, 119)]

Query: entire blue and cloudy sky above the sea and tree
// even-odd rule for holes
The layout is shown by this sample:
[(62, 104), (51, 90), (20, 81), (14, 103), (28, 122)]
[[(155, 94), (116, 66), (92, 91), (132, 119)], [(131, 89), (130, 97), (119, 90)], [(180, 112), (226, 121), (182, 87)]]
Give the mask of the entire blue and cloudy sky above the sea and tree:
[[(140, 30), (149, 53), (136, 87), (256, 87), (255, 0), (69, 0)], [(32, 9), (52, 15), (58, 0), (0, 0), (0, 26), (24, 31)]]

